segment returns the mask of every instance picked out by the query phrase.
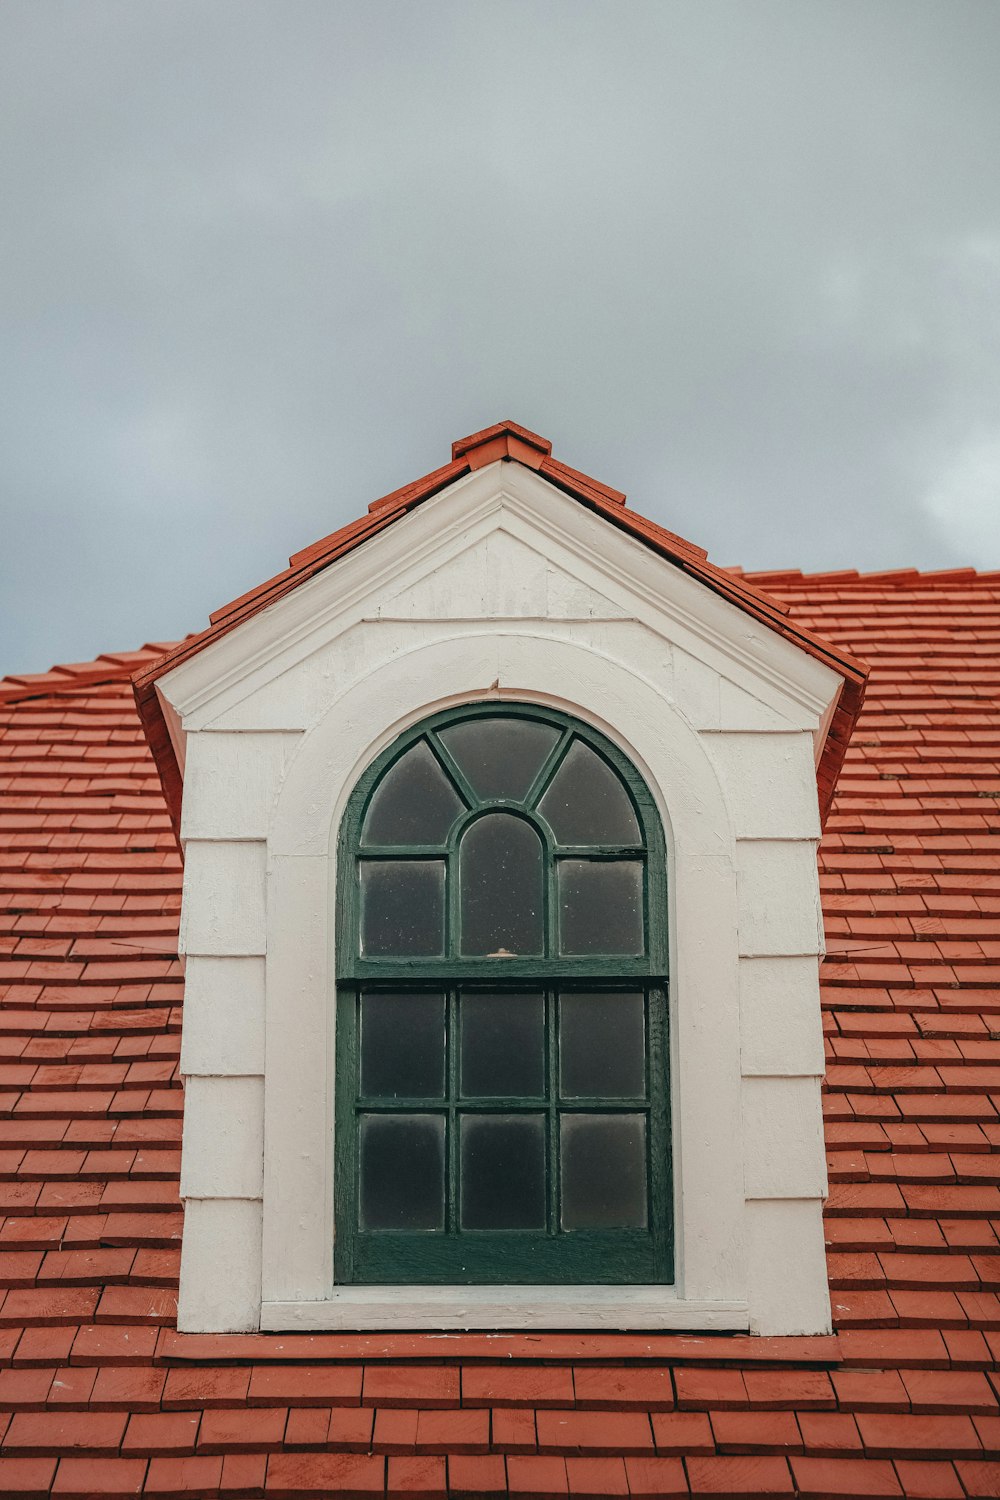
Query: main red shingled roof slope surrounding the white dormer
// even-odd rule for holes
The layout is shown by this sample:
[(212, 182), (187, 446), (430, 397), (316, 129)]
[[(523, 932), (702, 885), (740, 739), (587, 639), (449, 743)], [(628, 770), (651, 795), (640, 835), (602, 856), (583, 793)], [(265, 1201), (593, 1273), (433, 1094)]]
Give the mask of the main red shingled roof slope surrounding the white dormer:
[(0, 686), (0, 1491), (997, 1494), (1000, 576), (768, 588), (873, 663), (822, 850), (837, 1336), (178, 1336), (180, 864), (108, 657)]

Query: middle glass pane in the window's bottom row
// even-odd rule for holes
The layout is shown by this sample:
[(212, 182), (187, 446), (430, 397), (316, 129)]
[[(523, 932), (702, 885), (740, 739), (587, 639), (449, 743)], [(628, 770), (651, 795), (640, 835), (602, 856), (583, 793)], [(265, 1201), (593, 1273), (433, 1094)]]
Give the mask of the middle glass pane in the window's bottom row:
[(465, 1114), (462, 1228), (544, 1227), (544, 1116)]

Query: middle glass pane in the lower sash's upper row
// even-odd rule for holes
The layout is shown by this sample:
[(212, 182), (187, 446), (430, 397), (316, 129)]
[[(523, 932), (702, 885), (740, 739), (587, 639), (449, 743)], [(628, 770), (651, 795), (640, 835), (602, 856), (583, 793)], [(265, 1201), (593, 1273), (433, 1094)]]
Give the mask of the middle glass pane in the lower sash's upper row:
[(546, 1084), (541, 994), (462, 998), (462, 1092), (537, 1098)]

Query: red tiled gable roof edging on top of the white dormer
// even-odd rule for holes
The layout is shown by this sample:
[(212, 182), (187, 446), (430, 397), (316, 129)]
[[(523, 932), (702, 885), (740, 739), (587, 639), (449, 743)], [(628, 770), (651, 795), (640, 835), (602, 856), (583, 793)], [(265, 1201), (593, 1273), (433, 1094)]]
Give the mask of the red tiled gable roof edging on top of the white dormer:
[(789, 620), (787, 604), (772, 598), (735, 572), (709, 562), (703, 548), (694, 546), (684, 537), (630, 510), (621, 490), (553, 459), (552, 444), (547, 438), (541, 438), (517, 423), (498, 422), (492, 428), (484, 428), (481, 432), (453, 442), (450, 464), (372, 501), (366, 516), (292, 554), (285, 572), (214, 610), (205, 630), (187, 636), (154, 663), (144, 663), (135, 672), (133, 688), (139, 716), (156, 758), (175, 831), (180, 830), (183, 744), (177, 724), (168, 724), (157, 682), (262, 610), (286, 598), (357, 548), (382, 534), (432, 496), (498, 462), (520, 465), (526, 471), (538, 474), (555, 489), (573, 496), (609, 525), (639, 540), (673, 567), (744, 610), (757, 624), (831, 668), (840, 676), (843, 686), (837, 700), (831, 704), (825, 716), (823, 740), (817, 746), (820, 816), (826, 818), (847, 742), (864, 700), (867, 676), (864, 664), (849, 652)]

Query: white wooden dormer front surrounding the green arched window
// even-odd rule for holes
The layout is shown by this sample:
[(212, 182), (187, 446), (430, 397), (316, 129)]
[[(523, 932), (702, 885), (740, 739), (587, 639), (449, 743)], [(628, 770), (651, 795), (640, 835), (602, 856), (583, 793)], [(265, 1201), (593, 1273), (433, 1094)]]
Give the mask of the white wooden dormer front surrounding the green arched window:
[[(499, 460), (160, 676), (184, 777), (180, 1329), (829, 1332), (816, 764), (841, 686)], [(469, 704), (589, 726), (655, 804), (669, 1282), (337, 1282), (339, 834), (387, 747)]]

